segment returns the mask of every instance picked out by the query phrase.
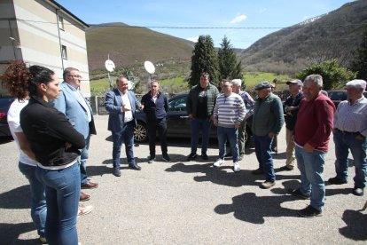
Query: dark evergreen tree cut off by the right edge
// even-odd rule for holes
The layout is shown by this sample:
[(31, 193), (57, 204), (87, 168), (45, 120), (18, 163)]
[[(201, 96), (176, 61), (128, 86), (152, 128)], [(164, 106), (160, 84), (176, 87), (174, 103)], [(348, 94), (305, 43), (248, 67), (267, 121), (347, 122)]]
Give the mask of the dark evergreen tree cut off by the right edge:
[(357, 78), (367, 80), (367, 27), (362, 36), (362, 42), (355, 51), (355, 60), (351, 69), (358, 72)]

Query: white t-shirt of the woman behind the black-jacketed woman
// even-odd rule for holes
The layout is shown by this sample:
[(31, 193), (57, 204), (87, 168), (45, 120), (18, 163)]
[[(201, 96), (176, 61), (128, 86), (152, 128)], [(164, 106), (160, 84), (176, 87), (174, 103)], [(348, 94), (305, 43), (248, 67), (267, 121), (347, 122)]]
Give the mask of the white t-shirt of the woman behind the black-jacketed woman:
[(23, 132), (23, 130), (20, 127), (20, 111), (21, 109), (23, 109), (23, 107), (26, 107), (27, 104), (28, 104), (28, 100), (19, 101), (18, 99), (15, 99), (12, 102), (11, 107), (9, 108), (7, 118), (8, 118), (9, 128), (12, 133), (12, 138), (14, 138), (15, 142), (17, 143), (18, 150), (20, 151), (20, 162), (27, 164), (27, 165), (31, 165), (31, 166), (36, 166), (37, 162), (35, 160), (30, 159), (27, 156), (27, 154), (25, 154), (20, 149), (20, 142), (17, 136), (15, 135), (16, 132)]

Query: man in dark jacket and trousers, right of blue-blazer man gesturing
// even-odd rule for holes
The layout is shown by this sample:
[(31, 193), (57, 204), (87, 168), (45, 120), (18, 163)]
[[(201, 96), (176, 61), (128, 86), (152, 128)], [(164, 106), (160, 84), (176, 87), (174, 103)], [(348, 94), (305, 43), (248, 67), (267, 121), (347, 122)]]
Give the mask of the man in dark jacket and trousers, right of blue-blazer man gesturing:
[(144, 113), (146, 115), (146, 125), (148, 127), (149, 137), (149, 157), (148, 163), (155, 160), (155, 136), (158, 130), (160, 137), (160, 148), (162, 150), (162, 158), (166, 162), (171, 162), (168, 156), (167, 149), (167, 111), (168, 100), (167, 97), (160, 92), (160, 83), (152, 80), (150, 91), (144, 94), (141, 102), (144, 105)]

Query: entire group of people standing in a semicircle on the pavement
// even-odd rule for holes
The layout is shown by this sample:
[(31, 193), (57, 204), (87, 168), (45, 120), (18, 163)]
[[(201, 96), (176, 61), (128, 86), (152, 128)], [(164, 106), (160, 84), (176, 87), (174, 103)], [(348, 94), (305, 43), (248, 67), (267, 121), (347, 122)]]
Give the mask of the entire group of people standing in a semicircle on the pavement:
[[(31, 187), (31, 216), (37, 227), (40, 241), (50, 244), (77, 244), (76, 217), (80, 201), (90, 199), (82, 189), (98, 187), (90, 182), (86, 161), (90, 136), (96, 134), (88, 102), (79, 89), (82, 76), (74, 67), (66, 68), (64, 82), (46, 67), (31, 66), (23, 61), (13, 61), (4, 77), (5, 87), (17, 99), (10, 108), (8, 120), (12, 136), (20, 149), (20, 171)], [(355, 188), (353, 194), (363, 195), (366, 184), (367, 99), (363, 97), (366, 82), (353, 80), (347, 83), (347, 100), (336, 110), (332, 100), (321, 93), (321, 75), (308, 75), (288, 82), (291, 95), (282, 104), (271, 92), (271, 84), (258, 83), (256, 99), (241, 91), (241, 80), (224, 80), (222, 91), (210, 82), (209, 75), (200, 75), (187, 99), (187, 114), (191, 118), (191, 153), (187, 161), (198, 157), (199, 131), (202, 132), (201, 158), (208, 160), (207, 146), (211, 124), (217, 126), (219, 167), (224, 162), (226, 144), (230, 143), (233, 171), (240, 171), (238, 162), (245, 154), (246, 121), (251, 118), (254, 146), (259, 168), (265, 181), (260, 187), (275, 185), (276, 176), (271, 144), (283, 124), (286, 127), (285, 170), (293, 170), (294, 160), (301, 172), (299, 188), (290, 194), (310, 199), (306, 209), (299, 210), (301, 217), (320, 216), (324, 207), (324, 158), (328, 151), (331, 132), (335, 142), (337, 160), (336, 177), (329, 183), (347, 183), (348, 150), (354, 156)], [(108, 130), (113, 136), (113, 175), (121, 176), (121, 145), (129, 168), (141, 170), (133, 153), (134, 128), (137, 126), (137, 108), (146, 114), (149, 135), (148, 162), (155, 161), (155, 136), (158, 131), (162, 158), (171, 162), (168, 155), (167, 122), (168, 99), (160, 92), (160, 83), (153, 80), (141, 102), (132, 91), (124, 75), (116, 80), (117, 88), (105, 96), (105, 108), (110, 113)], [(294, 154), (295, 152), (295, 154)], [(90, 208), (92, 209), (92, 208)], [(46, 215), (47, 212), (47, 215)]]

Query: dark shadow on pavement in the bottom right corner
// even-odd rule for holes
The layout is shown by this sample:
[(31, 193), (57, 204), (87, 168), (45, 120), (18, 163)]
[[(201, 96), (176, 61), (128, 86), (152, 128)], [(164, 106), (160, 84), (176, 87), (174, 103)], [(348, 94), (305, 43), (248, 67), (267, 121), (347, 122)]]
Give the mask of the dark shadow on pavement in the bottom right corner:
[(340, 234), (355, 241), (367, 240), (367, 214), (347, 209), (344, 211), (342, 219), (347, 226), (339, 229)]

